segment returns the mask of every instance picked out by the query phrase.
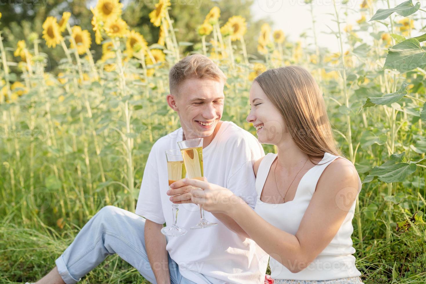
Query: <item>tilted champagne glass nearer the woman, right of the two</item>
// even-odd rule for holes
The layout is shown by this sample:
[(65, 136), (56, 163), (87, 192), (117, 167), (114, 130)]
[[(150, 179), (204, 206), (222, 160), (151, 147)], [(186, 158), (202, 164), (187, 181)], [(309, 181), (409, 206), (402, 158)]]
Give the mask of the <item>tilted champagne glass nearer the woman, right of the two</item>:
[[(184, 159), (185, 168), (189, 178), (203, 180), (203, 138), (196, 138), (178, 142), (181, 149), (182, 158)], [(190, 229), (203, 229), (217, 225), (211, 223), (204, 218), (204, 210), (201, 204), (200, 207), (200, 222)]]

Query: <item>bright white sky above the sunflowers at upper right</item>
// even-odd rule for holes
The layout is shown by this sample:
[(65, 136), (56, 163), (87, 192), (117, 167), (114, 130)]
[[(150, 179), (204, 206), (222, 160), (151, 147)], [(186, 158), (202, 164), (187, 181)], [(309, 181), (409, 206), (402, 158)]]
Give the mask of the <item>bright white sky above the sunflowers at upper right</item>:
[[(360, 5), (363, 0), (348, 0), (348, 3), (343, 5), (342, 0), (335, 0), (337, 9), (340, 11), (341, 29), (350, 23), (355, 26), (356, 20), (360, 19)], [(403, 0), (390, 0), (391, 7), (397, 6), (404, 2)], [(421, 7), (426, 6), (426, 0), (413, 0), (413, 3), (420, 2)], [(332, 52), (339, 51), (337, 38), (333, 34), (325, 34), (330, 32), (329, 26), (334, 31), (337, 31), (337, 23), (334, 21), (335, 12), (332, 0), (313, 0), (314, 17), (316, 19), (316, 34), (318, 44), (328, 47)], [(375, 6), (380, 5), (381, 8), (387, 8), (385, 1), (377, 1)], [(385, 7), (386, 5), (386, 7)], [(346, 8), (348, 7), (348, 8)], [(423, 8), (424, 9), (424, 8)], [(348, 16), (345, 16), (345, 11), (348, 11)], [(282, 29), (289, 40), (297, 41), (302, 32), (308, 34), (308, 43), (314, 43), (312, 33), (312, 17), (310, 5), (305, 4), (304, 0), (255, 0), (252, 6), (254, 17), (271, 18), (274, 22), (272, 29)], [(327, 14), (329, 13), (329, 14)], [(331, 14), (333, 15), (331, 15)], [(417, 12), (420, 13), (420, 12)], [(368, 16), (367, 20), (368, 19)], [(398, 18), (402, 18), (398, 16)], [(413, 36), (417, 36), (413, 34)]]

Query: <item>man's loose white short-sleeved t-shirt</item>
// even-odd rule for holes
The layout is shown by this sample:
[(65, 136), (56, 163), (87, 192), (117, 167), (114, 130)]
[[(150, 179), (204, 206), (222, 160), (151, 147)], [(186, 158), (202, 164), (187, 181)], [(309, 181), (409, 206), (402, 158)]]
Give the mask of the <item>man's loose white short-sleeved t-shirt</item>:
[[(173, 224), (165, 151), (179, 149), (182, 128), (156, 141), (148, 156), (135, 213), (158, 224)], [(204, 176), (226, 187), (252, 208), (256, 203), (253, 163), (265, 155), (262, 145), (233, 122), (223, 121), (210, 144), (203, 149)], [(210, 212), (205, 218), (218, 225), (189, 229), (200, 221), (196, 204), (179, 204), (177, 224), (188, 229), (184, 236), (168, 238), (166, 250), (184, 278), (197, 284), (259, 284), (265, 280), (269, 255), (253, 240), (228, 229)]]

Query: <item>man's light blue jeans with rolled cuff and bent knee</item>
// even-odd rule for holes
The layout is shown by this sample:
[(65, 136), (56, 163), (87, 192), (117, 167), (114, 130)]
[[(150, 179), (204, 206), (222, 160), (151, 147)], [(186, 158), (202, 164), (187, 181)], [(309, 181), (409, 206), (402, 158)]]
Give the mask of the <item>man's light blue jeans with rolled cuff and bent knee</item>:
[[(156, 284), (145, 249), (144, 227), (145, 219), (135, 213), (111, 205), (103, 207), (55, 260), (63, 281), (66, 284), (80, 281), (81, 277), (97, 267), (108, 255), (117, 253), (144, 278)], [(182, 277), (178, 264), (170, 255), (169, 270), (173, 284), (196, 284)], [(206, 283), (210, 283), (204, 275), (196, 274)]]

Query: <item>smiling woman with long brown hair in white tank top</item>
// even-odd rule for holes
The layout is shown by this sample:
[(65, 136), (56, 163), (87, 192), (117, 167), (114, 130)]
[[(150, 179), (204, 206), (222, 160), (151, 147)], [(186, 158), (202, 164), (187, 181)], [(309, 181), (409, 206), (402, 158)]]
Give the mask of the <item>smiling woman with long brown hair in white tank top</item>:
[(244, 196), (206, 179), (177, 181), (170, 195), (186, 189), (190, 199), (176, 203), (202, 204), (229, 216), (229, 229), (270, 255), (276, 284), (363, 283), (351, 240), (361, 181), (354, 165), (341, 157), (314, 78), (298, 66), (270, 69), (253, 82), (250, 105), (247, 121), (256, 127), (259, 142), (278, 149), (253, 165), (254, 210)]

